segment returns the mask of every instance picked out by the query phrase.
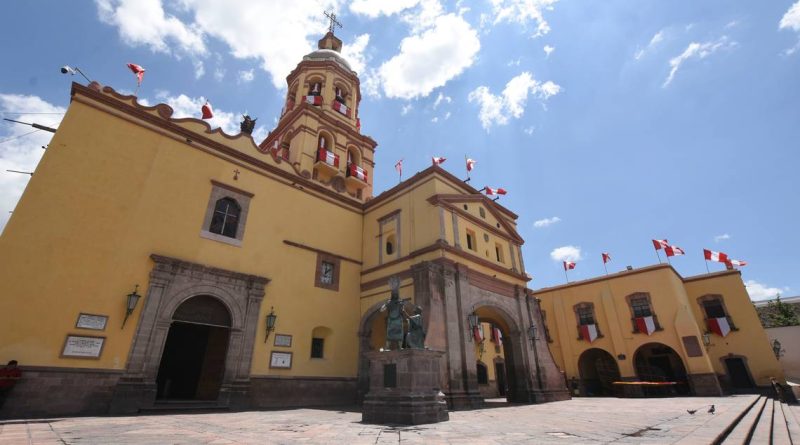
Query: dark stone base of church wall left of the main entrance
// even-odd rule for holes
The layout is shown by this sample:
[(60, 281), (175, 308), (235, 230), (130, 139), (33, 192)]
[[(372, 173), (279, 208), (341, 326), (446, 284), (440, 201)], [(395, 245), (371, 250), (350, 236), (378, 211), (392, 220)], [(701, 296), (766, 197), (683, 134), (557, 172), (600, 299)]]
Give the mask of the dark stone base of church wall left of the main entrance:
[(24, 366), (0, 419), (107, 414), (122, 371)]

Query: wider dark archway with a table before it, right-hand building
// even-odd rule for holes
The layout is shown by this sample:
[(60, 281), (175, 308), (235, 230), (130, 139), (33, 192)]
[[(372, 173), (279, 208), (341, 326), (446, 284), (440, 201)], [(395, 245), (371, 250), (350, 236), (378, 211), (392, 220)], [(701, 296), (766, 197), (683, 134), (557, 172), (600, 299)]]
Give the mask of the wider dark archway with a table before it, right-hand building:
[[(646, 382), (675, 382), (665, 387), (644, 387), (645, 395), (689, 394), (686, 366), (674, 349), (663, 343), (647, 343), (633, 356), (636, 376)], [(674, 390), (674, 391), (673, 391)]]

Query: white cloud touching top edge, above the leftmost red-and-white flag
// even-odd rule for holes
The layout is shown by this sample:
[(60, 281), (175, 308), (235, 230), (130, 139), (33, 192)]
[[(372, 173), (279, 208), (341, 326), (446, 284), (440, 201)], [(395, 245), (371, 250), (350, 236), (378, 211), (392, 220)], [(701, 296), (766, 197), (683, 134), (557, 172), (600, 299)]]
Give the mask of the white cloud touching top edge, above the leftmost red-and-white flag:
[(117, 27), (123, 42), (147, 46), (162, 53), (177, 47), (188, 54), (203, 55), (203, 31), (186, 25), (164, 11), (161, 0), (95, 0), (100, 20)]

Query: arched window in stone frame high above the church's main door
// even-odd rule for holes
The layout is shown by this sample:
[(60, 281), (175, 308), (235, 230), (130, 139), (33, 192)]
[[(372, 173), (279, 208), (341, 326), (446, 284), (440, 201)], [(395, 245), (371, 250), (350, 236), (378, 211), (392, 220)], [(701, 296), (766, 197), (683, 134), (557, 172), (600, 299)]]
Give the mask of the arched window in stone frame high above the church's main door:
[(218, 181), (211, 181), (202, 238), (241, 246), (253, 194)]

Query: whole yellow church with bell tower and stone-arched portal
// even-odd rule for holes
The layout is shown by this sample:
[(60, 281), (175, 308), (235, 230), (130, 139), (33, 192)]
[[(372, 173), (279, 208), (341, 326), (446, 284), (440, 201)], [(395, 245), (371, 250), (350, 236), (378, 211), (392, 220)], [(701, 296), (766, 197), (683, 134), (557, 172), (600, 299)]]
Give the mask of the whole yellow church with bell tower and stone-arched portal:
[(391, 277), (445, 351), (451, 409), (501, 393), (479, 383), (481, 325), (508, 400), (569, 397), (517, 215), (437, 166), (375, 195), (341, 46), (289, 74), (264, 141), (72, 85), (0, 236), (0, 360), (23, 369), (0, 417), (356, 403)]

